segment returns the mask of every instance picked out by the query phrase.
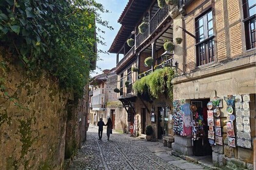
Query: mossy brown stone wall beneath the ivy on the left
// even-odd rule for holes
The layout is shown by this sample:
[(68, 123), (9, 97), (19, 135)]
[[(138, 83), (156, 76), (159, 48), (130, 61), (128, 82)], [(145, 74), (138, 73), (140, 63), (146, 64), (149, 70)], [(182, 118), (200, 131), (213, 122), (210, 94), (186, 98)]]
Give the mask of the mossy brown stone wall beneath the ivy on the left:
[(66, 122), (78, 117), (73, 107), (67, 114), (68, 93), (45, 73), (28, 78), (18, 62), (0, 66), (0, 78), (0, 169), (63, 169)]

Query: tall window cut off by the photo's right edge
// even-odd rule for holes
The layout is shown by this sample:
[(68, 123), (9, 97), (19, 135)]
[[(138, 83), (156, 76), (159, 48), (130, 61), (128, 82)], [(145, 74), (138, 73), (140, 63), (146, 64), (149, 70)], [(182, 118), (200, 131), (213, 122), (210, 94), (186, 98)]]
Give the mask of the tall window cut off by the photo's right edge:
[(244, 29), (246, 36), (246, 49), (255, 48), (255, 0), (243, 0)]

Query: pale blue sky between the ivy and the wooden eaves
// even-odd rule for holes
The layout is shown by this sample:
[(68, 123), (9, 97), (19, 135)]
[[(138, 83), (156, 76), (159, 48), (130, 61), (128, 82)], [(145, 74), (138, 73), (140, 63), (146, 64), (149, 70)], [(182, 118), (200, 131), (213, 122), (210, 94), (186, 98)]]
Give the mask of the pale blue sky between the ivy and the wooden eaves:
[[(124, 10), (124, 7), (126, 7), (128, 0), (96, 0), (96, 2), (101, 3), (104, 5), (105, 9), (110, 11), (110, 13), (102, 13), (101, 17), (102, 20), (108, 21), (109, 25), (114, 28), (114, 30), (109, 30), (107, 28), (101, 27), (101, 29), (105, 31), (105, 34), (101, 33), (101, 36), (104, 37), (106, 46), (98, 44), (97, 48), (98, 50), (101, 49), (107, 51), (110, 48), (116, 33), (120, 29), (121, 24), (118, 23), (118, 19)], [(97, 61), (97, 66), (101, 68), (101, 70), (96, 69), (94, 73), (91, 73), (91, 77), (102, 73), (102, 70), (104, 69), (112, 69), (113, 67), (116, 67), (115, 53), (109, 53), (109, 55), (99, 53), (98, 55), (100, 60)]]

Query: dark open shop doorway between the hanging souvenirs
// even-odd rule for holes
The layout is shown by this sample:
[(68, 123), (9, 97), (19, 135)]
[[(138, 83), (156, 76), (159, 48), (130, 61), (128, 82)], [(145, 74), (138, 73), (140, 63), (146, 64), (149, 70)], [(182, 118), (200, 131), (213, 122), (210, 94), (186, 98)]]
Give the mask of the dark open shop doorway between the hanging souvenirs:
[(199, 129), (200, 137), (197, 138), (196, 140), (193, 140), (193, 154), (195, 156), (212, 155), (212, 146), (208, 141), (208, 130), (209, 130), (209, 127), (207, 125), (208, 101), (210, 101), (210, 98), (207, 98), (204, 100), (191, 100), (191, 103), (190, 103), (190, 104), (196, 105), (198, 117), (199, 119), (202, 120), (202, 123), (203, 123), (202, 127), (199, 126), (200, 128), (203, 128), (203, 129)]

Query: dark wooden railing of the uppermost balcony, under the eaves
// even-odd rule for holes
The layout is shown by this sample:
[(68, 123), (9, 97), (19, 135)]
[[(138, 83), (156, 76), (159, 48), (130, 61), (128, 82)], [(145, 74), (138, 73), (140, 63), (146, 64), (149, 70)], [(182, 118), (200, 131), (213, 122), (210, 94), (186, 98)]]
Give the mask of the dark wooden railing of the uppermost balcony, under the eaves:
[(152, 16), (151, 20), (149, 21), (148, 29), (145, 33), (138, 33), (138, 35), (135, 36), (135, 47), (136, 49), (144, 42), (146, 39), (149, 38), (149, 36), (152, 35), (152, 33), (155, 32), (155, 30), (158, 29), (158, 27), (165, 21), (166, 18), (168, 18), (170, 12), (169, 5), (165, 5), (163, 9), (158, 9), (158, 11), (155, 13), (154, 16)]

